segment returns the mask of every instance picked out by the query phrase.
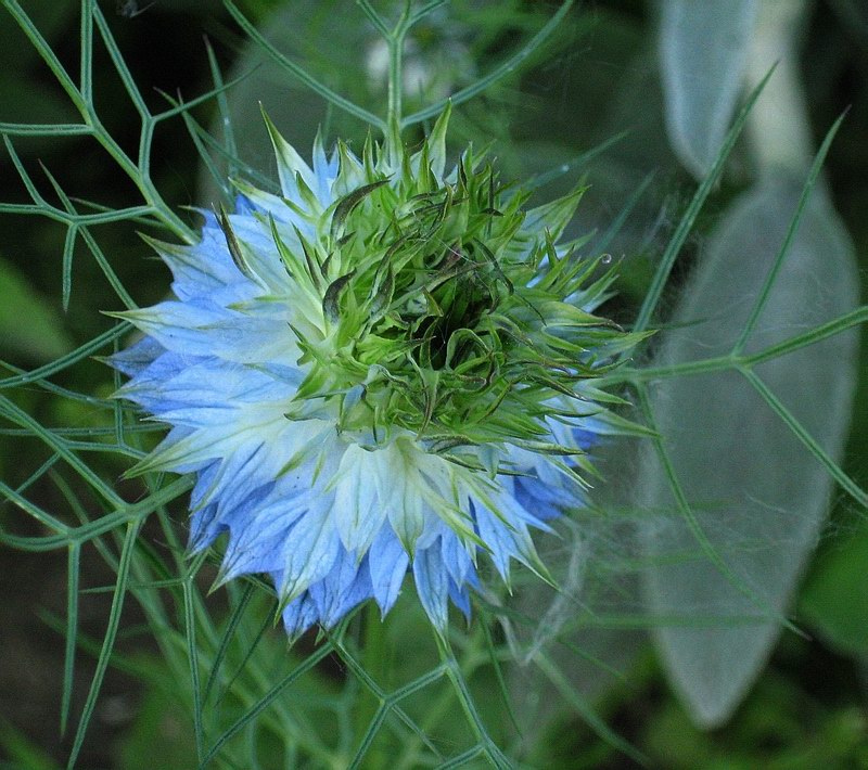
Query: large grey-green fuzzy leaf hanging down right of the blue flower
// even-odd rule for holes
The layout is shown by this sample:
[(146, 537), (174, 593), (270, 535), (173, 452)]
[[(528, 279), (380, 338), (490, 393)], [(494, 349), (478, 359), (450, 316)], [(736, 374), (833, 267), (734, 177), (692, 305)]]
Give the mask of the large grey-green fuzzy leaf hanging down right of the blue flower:
[[(736, 202), (714, 233), (661, 339), (656, 363), (727, 356), (754, 312), (783, 242), (799, 188), (767, 179)], [(815, 191), (745, 352), (761, 351), (855, 307), (852, 247)], [(846, 437), (857, 336), (845, 333), (773, 359), (754, 373), (832, 458)], [(718, 726), (741, 701), (777, 639), (793, 587), (826, 516), (831, 479), (790, 428), (733, 370), (651, 388), (652, 411), (701, 537), (644, 453), (638, 498), (649, 512), (649, 608), (681, 618), (658, 628), (664, 666), (698, 723)]]

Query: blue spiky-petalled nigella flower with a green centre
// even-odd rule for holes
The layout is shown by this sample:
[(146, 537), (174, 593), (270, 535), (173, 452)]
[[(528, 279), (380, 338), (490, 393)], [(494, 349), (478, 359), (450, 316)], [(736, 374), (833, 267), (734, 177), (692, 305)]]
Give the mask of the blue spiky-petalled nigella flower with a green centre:
[(270, 575), (291, 633), (385, 614), (408, 570), (439, 628), (486, 560), (545, 578), (531, 531), (611, 425), (593, 378), (635, 339), (556, 245), (579, 192), (525, 211), (470, 149), (446, 172), (446, 123), (312, 166), (269, 123), (282, 194), (239, 183), (197, 245), (155, 244), (177, 299), (118, 313), (146, 335), (120, 395), (171, 426), (138, 471), (196, 475), (192, 550), (228, 534), (220, 579)]

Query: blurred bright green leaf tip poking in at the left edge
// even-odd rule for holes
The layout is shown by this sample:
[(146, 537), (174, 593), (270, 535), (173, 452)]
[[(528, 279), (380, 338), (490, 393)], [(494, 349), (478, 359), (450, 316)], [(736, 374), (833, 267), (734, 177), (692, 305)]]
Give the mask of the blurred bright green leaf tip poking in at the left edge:
[(53, 304), (12, 262), (0, 258), (0, 355), (31, 363), (63, 356), (73, 343)]

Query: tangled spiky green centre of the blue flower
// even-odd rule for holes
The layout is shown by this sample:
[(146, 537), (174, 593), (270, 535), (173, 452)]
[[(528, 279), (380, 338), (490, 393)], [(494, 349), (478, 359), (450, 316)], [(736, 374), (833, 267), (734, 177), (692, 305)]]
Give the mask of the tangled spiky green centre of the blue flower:
[(580, 193), (525, 213), (528, 194), (470, 152), (449, 182), (408, 161), (392, 178), (373, 168), (322, 214), (316, 242), (299, 233), (323, 331), (295, 330), (309, 374), (288, 416), (326, 410), (374, 442), (409, 431), (456, 460), (502, 442), (565, 453), (547, 442), (552, 403), (577, 401), (625, 336), (582, 309), (611, 273), (553, 243)]

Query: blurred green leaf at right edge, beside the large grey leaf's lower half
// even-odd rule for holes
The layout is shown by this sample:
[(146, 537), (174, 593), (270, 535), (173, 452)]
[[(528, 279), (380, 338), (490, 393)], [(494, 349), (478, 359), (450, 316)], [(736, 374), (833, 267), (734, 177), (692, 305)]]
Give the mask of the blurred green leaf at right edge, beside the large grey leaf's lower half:
[(844, 655), (868, 658), (868, 528), (824, 554), (802, 591), (802, 616)]

